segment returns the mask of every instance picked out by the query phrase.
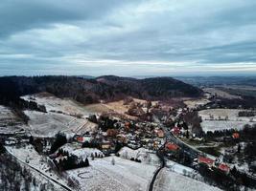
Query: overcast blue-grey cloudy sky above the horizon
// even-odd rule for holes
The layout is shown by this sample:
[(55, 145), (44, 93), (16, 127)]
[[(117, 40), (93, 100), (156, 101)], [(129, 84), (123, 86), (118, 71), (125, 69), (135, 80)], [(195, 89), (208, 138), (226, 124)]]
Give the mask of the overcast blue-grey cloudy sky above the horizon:
[(1, 0), (0, 75), (256, 74), (255, 0)]

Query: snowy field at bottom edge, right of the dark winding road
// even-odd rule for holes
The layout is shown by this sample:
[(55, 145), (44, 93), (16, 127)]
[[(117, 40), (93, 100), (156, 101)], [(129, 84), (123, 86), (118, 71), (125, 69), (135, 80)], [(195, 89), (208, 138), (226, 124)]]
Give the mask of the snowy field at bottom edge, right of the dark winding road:
[(153, 191), (221, 191), (221, 189), (210, 186), (198, 180), (193, 180), (164, 168), (158, 174)]

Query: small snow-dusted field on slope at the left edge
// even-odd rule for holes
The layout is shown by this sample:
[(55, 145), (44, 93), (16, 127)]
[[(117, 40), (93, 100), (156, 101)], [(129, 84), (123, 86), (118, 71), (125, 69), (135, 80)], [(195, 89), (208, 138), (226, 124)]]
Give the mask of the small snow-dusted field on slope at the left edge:
[(15, 117), (9, 108), (0, 105), (0, 133), (12, 134), (22, 129), (24, 129), (23, 122)]

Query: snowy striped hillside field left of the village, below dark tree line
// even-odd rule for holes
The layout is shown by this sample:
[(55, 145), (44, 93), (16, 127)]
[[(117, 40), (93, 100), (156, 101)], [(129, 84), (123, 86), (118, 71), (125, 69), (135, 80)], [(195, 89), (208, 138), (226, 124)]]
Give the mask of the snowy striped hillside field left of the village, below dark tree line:
[(81, 128), (86, 127), (87, 120), (82, 118), (57, 113), (41, 113), (28, 110), (24, 112), (30, 117), (30, 130), (34, 135), (39, 137), (54, 137), (61, 131), (76, 133), (77, 131), (81, 131)]

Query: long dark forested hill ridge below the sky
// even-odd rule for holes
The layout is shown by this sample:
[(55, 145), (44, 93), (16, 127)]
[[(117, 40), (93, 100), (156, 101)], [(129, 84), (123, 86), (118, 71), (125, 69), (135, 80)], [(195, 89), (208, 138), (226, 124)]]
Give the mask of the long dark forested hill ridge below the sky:
[(0, 77), (0, 99), (49, 92), (58, 97), (72, 97), (81, 103), (112, 101), (133, 96), (150, 100), (202, 95), (202, 91), (172, 77), (136, 79), (104, 75), (96, 78), (78, 76), (5, 76)]

